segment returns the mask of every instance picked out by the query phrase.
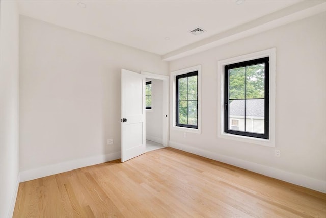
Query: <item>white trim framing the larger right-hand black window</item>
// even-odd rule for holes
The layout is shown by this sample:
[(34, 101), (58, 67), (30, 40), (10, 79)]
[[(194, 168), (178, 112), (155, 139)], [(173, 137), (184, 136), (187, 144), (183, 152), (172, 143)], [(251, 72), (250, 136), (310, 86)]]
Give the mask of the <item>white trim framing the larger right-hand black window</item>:
[[(269, 139), (239, 136), (224, 132), (224, 66), (228, 64), (269, 57)], [(262, 146), (275, 147), (275, 97), (276, 97), (276, 49), (267, 49), (251, 54), (218, 61), (218, 137)]]

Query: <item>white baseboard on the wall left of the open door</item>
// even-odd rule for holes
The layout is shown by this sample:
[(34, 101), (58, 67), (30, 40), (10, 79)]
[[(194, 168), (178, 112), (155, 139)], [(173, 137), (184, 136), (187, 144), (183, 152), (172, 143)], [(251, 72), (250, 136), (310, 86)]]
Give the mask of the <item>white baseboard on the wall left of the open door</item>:
[(111, 160), (117, 160), (120, 158), (121, 152), (115, 152), (106, 155), (93, 156), (84, 159), (71, 160), (63, 163), (47, 165), (35, 169), (28, 169), (27, 171), (20, 172), (20, 182), (25, 182), (45, 176), (72, 171), (73, 169), (104, 163)]

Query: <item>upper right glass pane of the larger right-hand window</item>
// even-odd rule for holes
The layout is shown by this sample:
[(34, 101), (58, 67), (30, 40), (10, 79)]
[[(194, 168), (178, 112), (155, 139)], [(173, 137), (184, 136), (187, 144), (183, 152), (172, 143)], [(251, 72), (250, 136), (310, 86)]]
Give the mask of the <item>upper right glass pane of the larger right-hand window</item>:
[(264, 98), (265, 90), (265, 64), (247, 66), (246, 98)]

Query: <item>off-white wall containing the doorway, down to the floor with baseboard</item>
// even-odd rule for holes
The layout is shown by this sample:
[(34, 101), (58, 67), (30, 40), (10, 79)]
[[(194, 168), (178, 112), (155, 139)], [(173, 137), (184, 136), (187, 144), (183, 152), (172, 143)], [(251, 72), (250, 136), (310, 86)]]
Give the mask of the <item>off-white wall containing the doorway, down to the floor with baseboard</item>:
[(168, 74), (158, 55), (20, 16), (22, 180), (120, 158), (121, 68)]

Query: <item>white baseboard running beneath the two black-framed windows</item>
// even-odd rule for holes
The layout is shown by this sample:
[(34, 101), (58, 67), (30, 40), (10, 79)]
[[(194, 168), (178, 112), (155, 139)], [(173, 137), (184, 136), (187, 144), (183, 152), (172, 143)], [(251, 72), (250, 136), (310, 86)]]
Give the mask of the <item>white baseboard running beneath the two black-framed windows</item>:
[(169, 141), (169, 142), (170, 142), (169, 143), (170, 147), (172, 148), (180, 149), (182, 151), (186, 151), (212, 160), (217, 160), (243, 169), (248, 169), (249, 171), (259, 173), (268, 177), (283, 180), (285, 182), (289, 182), (295, 185), (300, 185), (306, 188), (310, 188), (316, 191), (326, 193), (326, 181), (283, 171), (282, 169), (277, 169), (277, 168), (261, 165), (258, 163), (253, 163), (246, 160), (241, 160), (238, 158), (226, 156), (226, 155), (221, 155), (210, 151), (205, 151), (199, 148), (187, 146), (185, 144), (181, 144), (174, 141)]

